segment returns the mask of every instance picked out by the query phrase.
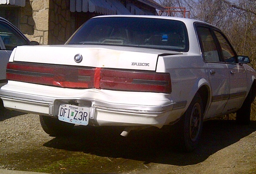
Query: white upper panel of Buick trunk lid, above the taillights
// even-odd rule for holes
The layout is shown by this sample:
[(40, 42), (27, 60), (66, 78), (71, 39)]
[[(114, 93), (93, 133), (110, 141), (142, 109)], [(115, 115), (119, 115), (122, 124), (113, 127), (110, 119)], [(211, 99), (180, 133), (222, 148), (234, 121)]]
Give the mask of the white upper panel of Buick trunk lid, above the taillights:
[[(74, 60), (77, 54), (83, 57), (80, 63)], [(125, 47), (124, 50), (112, 50), (101, 47), (18, 46), (13, 55), (14, 61), (20, 62), (151, 71), (155, 71), (158, 58), (154, 53), (125, 51)]]

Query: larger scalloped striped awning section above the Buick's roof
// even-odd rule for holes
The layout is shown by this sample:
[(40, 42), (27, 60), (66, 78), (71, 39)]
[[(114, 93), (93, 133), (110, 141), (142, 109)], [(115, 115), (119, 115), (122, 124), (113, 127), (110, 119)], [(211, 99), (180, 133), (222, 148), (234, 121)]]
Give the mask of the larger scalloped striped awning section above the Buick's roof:
[(70, 11), (89, 11), (103, 15), (131, 15), (118, 0), (70, 0)]

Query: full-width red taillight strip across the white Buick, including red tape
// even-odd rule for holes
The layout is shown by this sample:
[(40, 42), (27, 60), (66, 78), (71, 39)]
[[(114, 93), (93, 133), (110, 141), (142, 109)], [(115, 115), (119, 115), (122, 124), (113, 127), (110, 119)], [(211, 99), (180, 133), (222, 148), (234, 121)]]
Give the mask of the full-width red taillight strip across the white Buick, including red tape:
[(9, 62), (7, 64), (6, 77), (7, 80), (63, 88), (172, 92), (170, 74), (152, 71)]

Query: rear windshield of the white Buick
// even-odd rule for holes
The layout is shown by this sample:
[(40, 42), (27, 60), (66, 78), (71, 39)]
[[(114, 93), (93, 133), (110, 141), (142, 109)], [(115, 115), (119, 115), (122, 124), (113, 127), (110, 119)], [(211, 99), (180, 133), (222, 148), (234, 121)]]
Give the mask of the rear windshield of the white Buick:
[(120, 45), (182, 52), (187, 52), (189, 46), (183, 22), (138, 17), (90, 19), (66, 44)]

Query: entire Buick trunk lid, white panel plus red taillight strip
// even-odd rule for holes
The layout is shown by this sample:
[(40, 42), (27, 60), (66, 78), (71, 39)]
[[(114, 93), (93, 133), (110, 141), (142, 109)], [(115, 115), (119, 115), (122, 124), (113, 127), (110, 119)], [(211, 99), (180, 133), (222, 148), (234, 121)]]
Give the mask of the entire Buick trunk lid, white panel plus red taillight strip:
[(62, 88), (172, 92), (170, 74), (155, 71), (157, 60), (158, 56), (180, 53), (122, 48), (21, 46), (10, 57), (6, 77)]

